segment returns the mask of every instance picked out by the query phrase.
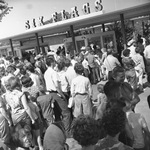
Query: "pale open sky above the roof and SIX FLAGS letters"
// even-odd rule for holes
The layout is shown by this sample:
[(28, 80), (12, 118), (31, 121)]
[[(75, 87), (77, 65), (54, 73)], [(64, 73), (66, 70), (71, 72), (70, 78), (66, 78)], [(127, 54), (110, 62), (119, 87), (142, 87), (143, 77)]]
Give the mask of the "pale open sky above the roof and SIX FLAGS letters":
[[(90, 4), (91, 12), (94, 12), (95, 0), (5, 0), (8, 6), (13, 9), (0, 22), (0, 38), (12, 36), (24, 32), (25, 21), (38, 19), (44, 16), (44, 21), (51, 18), (52, 13), (65, 9), (70, 12), (71, 8), (77, 6), (79, 15), (83, 15), (82, 6)], [(142, 4), (150, 0), (102, 0), (104, 10), (109, 12), (118, 9), (120, 6), (128, 7), (136, 3)], [(123, 3), (126, 3), (125, 5)]]

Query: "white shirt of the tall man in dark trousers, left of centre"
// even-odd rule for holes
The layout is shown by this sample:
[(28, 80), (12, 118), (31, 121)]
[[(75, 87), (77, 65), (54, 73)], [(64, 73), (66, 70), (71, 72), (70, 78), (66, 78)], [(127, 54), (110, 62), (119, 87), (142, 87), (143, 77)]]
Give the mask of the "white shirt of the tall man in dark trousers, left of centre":
[(47, 91), (57, 91), (56, 85), (57, 82), (60, 82), (60, 80), (58, 73), (54, 69), (48, 67), (48, 69), (44, 73), (44, 79)]

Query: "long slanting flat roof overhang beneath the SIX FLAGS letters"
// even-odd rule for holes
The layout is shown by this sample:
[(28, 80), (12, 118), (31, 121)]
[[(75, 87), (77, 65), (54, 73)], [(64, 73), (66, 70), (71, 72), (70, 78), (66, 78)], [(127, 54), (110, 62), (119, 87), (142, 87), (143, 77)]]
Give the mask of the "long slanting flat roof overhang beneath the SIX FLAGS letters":
[(38, 33), (39, 36), (63, 33), (69, 31), (71, 25), (73, 25), (73, 28), (76, 30), (103, 23), (114, 22), (120, 20), (120, 14), (124, 14), (124, 19), (131, 19), (139, 16), (150, 15), (150, 3), (126, 8), (123, 10), (117, 10), (109, 13), (94, 12), (88, 15), (83, 15), (76, 18), (59, 21), (56, 23), (50, 23), (44, 26), (26, 30), (25, 32), (20, 34), (2, 38), (0, 39), (0, 41), (6, 41), (8, 39), (21, 40), (25, 38), (31, 38), (35, 37), (35, 33)]

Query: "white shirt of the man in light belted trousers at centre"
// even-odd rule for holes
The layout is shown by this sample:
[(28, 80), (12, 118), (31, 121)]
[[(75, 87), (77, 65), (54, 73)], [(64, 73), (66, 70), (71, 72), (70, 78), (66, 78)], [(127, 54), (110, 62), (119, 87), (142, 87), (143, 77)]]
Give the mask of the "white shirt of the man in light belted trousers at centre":
[(77, 93), (92, 95), (90, 80), (82, 75), (77, 75), (77, 77), (72, 80), (71, 95), (74, 96)]

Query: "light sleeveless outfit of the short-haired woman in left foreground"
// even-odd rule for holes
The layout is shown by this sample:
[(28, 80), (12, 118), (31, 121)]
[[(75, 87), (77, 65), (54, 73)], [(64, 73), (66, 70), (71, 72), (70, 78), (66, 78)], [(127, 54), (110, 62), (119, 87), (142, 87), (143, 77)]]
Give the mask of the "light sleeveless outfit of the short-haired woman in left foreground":
[(7, 92), (5, 94), (6, 102), (11, 108), (12, 120), (14, 125), (22, 119), (26, 118), (27, 115), (21, 102), (21, 97), (23, 96), (23, 94), (23, 92), (18, 90), (13, 90), (12, 92)]

